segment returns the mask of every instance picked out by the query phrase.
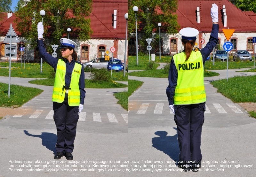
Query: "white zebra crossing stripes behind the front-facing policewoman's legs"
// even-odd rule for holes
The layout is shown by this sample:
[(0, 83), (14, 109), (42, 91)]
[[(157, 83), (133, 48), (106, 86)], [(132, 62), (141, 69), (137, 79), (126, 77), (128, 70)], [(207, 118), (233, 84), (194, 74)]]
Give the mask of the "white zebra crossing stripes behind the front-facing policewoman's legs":
[[(44, 110), (36, 110), (33, 112), (28, 118), (37, 119)], [(16, 114), (12, 117), (21, 118), (24, 114)], [(122, 118), (126, 123), (128, 123), (128, 114), (121, 114)], [(108, 121), (113, 123), (118, 123), (118, 120), (115, 114), (107, 113)], [(78, 121), (85, 121), (86, 119), (86, 112), (79, 113)], [(53, 110), (51, 110), (45, 117), (45, 119), (53, 119)], [(101, 116), (99, 112), (92, 112), (92, 119), (94, 122), (102, 122)]]

